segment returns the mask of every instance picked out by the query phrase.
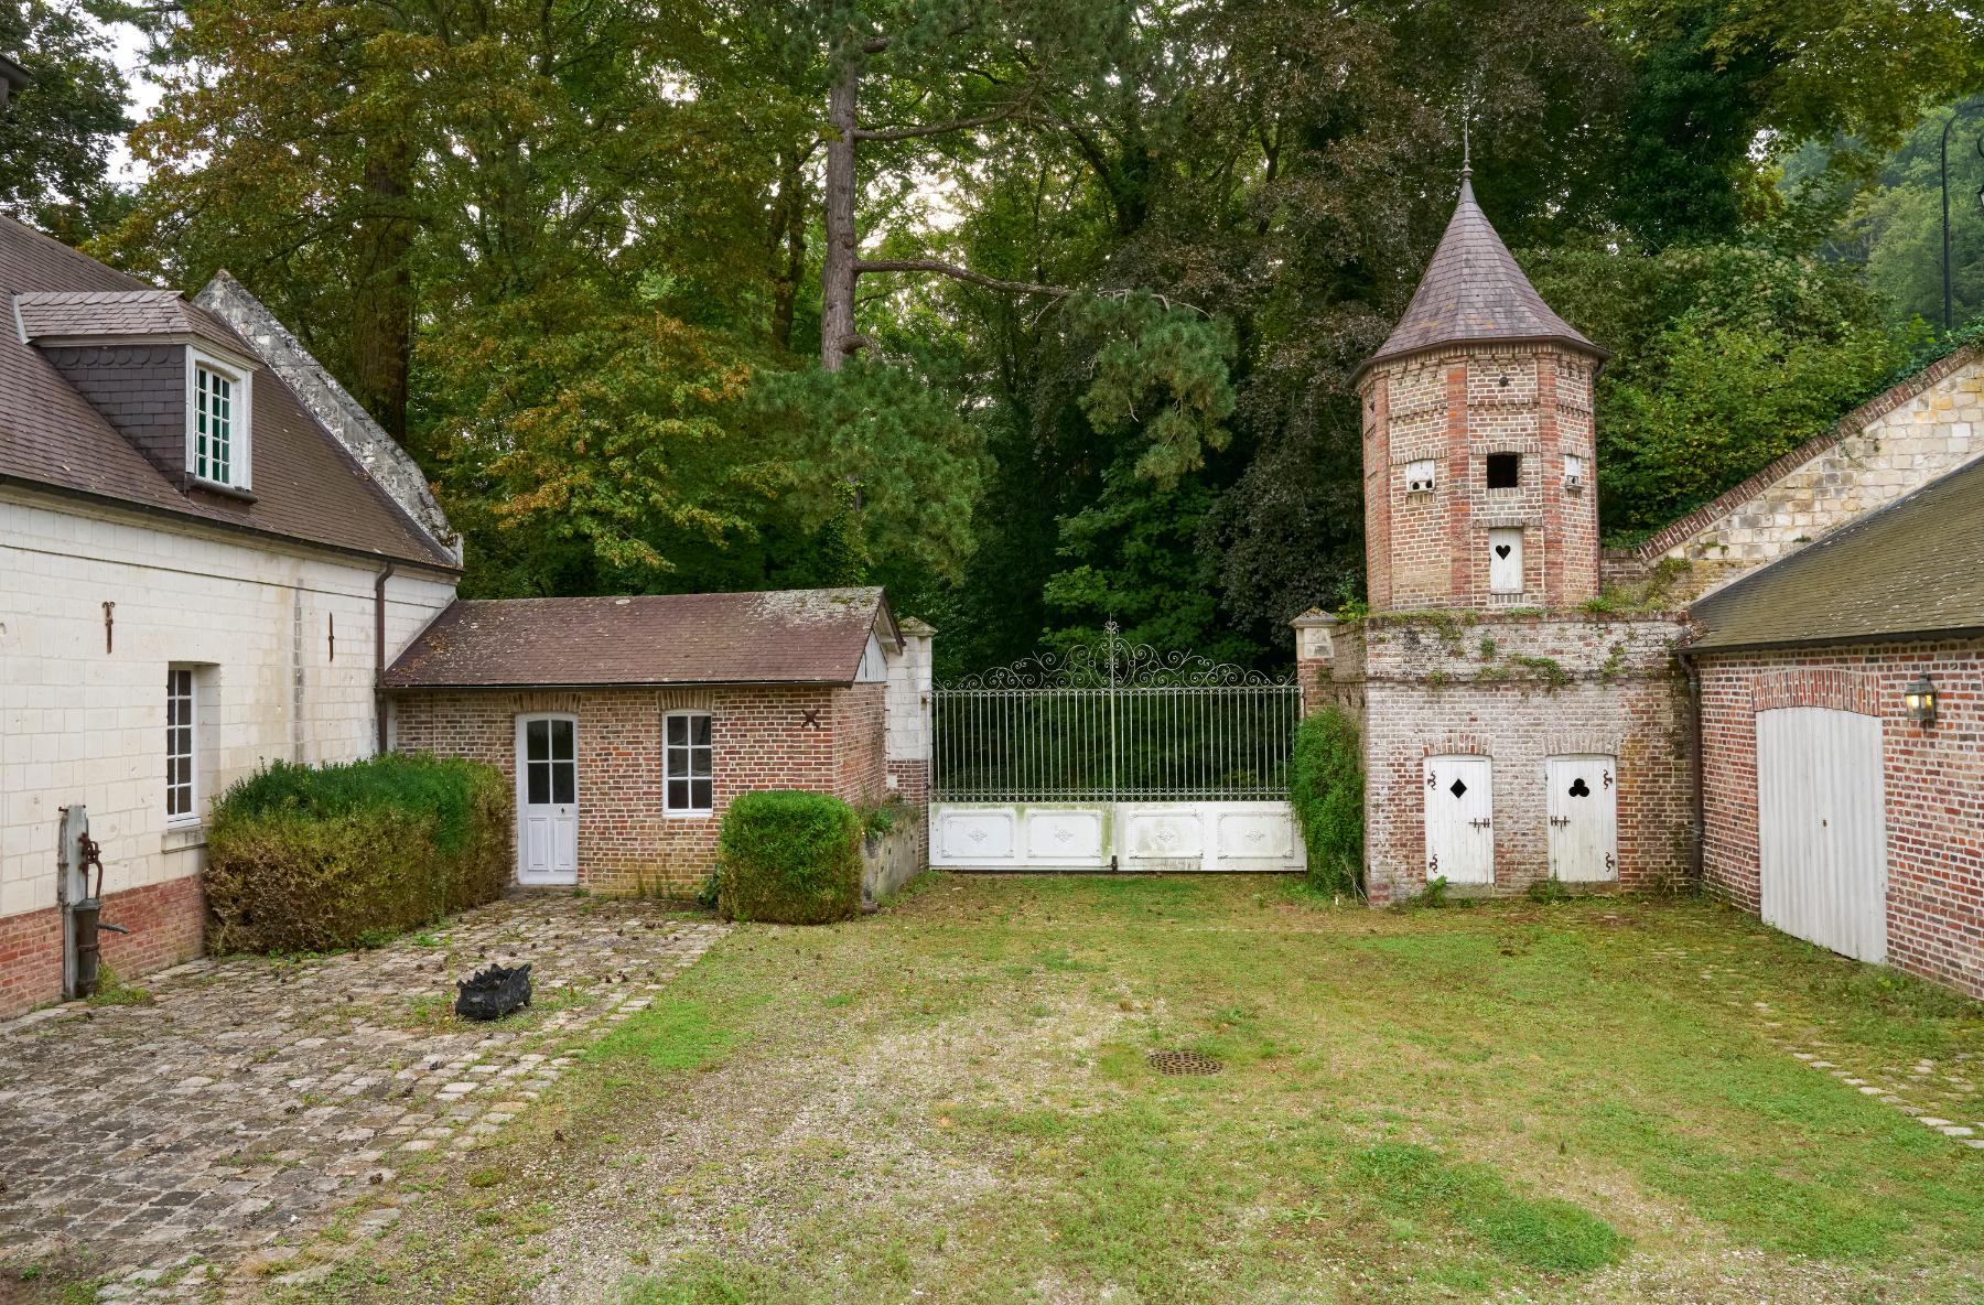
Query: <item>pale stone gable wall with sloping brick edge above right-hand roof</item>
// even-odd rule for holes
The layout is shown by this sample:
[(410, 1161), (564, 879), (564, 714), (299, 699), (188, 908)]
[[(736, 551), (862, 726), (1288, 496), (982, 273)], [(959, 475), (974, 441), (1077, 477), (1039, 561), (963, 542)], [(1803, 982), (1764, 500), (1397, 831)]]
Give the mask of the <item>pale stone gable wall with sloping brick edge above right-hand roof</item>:
[(1639, 547), (1690, 563), (1700, 597), (1984, 454), (1984, 351), (1960, 349), (1867, 401)]

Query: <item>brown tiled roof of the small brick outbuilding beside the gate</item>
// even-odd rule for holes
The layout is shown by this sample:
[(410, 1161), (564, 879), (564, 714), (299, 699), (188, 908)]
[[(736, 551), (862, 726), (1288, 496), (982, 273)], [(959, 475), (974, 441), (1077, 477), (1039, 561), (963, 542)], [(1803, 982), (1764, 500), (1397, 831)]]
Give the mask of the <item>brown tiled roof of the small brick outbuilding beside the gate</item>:
[(871, 631), (899, 639), (881, 589), (464, 599), (401, 652), (385, 684), (851, 684)]

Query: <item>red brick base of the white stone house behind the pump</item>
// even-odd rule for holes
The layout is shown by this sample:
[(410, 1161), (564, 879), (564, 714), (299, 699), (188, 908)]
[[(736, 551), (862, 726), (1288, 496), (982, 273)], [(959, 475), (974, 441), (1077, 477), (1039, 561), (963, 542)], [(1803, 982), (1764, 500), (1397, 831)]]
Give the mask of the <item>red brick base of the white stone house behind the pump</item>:
[[(111, 892), (103, 922), (129, 934), (103, 934), (103, 964), (137, 978), (200, 954), (206, 896), (198, 875)], [(0, 1017), (62, 998), (62, 908), (0, 918)]]

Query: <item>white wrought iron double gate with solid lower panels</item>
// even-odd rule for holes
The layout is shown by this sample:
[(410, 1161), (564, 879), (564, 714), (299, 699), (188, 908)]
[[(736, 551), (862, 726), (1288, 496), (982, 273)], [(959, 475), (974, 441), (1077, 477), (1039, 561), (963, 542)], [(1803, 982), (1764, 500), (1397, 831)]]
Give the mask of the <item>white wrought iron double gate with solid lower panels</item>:
[(1288, 754), (1302, 692), (1103, 641), (938, 684), (930, 865), (1298, 871)]

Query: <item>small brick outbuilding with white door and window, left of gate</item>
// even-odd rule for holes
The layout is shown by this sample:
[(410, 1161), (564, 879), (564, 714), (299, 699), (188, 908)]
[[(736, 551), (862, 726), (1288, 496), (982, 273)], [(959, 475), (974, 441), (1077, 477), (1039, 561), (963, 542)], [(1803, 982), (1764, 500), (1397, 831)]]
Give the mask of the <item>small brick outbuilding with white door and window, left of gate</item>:
[(385, 674), (393, 746), (510, 777), (526, 885), (688, 894), (750, 789), (897, 795), (921, 869), (929, 643), (881, 589), (458, 601)]

